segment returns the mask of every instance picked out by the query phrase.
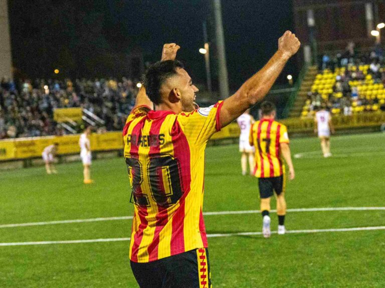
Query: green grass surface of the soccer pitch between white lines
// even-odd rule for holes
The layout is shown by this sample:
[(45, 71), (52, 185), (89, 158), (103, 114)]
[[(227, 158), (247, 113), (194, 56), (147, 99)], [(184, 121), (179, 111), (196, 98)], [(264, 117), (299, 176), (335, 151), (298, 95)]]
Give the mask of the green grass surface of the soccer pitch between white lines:
[[(322, 158), (316, 138), (293, 139), (296, 179), (288, 208), (384, 206), (385, 134), (332, 138)], [(318, 151), (318, 152), (314, 152)], [(0, 172), (0, 224), (132, 215), (123, 159), (96, 160), (95, 183), (81, 163)], [(237, 145), (208, 147), (205, 211), (259, 208), (257, 179), (242, 176)], [(273, 200), (273, 208), (275, 201)], [(261, 231), (260, 214), (207, 215), (207, 232)], [(385, 225), (385, 211), (288, 213), (294, 229)], [(272, 227), (276, 229), (276, 214)], [(131, 220), (0, 228), (0, 242), (129, 237)], [(385, 231), (209, 238), (214, 287), (383, 287)], [(0, 287), (137, 287), (128, 241), (0, 246)]]

